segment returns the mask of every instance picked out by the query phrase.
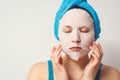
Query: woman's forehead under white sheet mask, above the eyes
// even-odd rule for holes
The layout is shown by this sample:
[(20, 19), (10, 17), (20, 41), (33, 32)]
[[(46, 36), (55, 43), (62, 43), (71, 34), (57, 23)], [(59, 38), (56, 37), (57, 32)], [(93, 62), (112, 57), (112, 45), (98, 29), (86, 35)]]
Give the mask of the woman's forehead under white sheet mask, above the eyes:
[(90, 14), (83, 9), (71, 9), (67, 11), (60, 20), (60, 25), (93, 25), (93, 20)]

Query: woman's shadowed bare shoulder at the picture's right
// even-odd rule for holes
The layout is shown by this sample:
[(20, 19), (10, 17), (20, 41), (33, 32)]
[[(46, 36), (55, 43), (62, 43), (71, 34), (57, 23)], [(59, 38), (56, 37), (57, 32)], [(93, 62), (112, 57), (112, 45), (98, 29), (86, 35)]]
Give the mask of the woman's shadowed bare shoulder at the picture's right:
[(120, 73), (116, 68), (103, 64), (100, 80), (120, 80)]

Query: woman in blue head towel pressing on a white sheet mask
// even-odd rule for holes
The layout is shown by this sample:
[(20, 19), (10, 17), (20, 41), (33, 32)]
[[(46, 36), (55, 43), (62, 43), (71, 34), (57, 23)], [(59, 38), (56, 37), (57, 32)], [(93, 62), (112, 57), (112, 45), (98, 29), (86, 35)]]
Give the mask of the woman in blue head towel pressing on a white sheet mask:
[(100, 22), (86, 0), (63, 0), (54, 32), (60, 45), (52, 48), (51, 60), (32, 66), (28, 80), (120, 80), (115, 68), (101, 63), (103, 50), (95, 42)]

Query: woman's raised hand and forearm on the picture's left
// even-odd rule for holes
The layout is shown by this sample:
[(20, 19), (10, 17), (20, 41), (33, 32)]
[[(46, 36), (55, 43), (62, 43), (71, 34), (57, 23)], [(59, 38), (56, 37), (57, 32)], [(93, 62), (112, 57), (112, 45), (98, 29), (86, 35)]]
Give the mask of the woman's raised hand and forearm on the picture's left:
[(54, 78), (55, 80), (69, 80), (67, 71), (63, 65), (62, 55), (60, 54), (62, 51), (61, 45), (58, 47), (53, 47), (51, 52), (51, 60), (53, 63), (54, 70)]

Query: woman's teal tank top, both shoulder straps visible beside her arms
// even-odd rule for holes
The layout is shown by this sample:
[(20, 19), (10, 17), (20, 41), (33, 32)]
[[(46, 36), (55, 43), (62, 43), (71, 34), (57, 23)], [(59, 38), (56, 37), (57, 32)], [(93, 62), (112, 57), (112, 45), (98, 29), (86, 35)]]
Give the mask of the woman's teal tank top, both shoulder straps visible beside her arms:
[[(102, 69), (102, 64), (100, 64), (95, 80), (100, 80), (101, 69)], [(51, 60), (48, 60), (48, 80), (54, 80), (53, 66)]]

